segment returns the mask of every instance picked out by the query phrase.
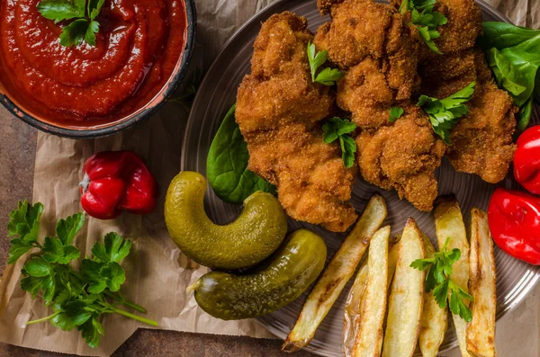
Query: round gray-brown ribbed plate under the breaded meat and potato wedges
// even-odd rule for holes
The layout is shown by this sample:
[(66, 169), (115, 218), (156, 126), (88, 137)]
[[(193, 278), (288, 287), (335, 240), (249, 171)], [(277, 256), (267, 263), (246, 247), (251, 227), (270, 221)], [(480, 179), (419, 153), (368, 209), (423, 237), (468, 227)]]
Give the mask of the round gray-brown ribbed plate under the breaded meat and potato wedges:
[[(489, 5), (482, 2), (479, 2), (479, 4), (482, 7), (485, 21), (509, 22), (506, 17)], [(260, 30), (260, 24), (273, 13), (281, 13), (285, 10), (306, 16), (311, 31), (316, 31), (322, 23), (328, 21), (327, 17), (320, 16), (315, 0), (281, 0), (257, 13), (230, 38), (206, 74), (193, 103), (184, 138), (182, 170), (206, 174), (206, 156), (211, 146), (211, 140), (220, 127), (224, 115), (236, 101), (238, 85), (250, 71), (249, 61), (253, 53), (252, 46)], [(535, 110), (534, 118), (535, 122), (538, 123), (538, 108), (536, 107)], [(440, 169), (437, 170), (437, 179), (441, 195), (455, 193), (466, 220), (470, 219), (467, 212), (470, 212), (473, 207), (487, 209), (491, 193), (497, 187), (496, 185), (484, 183), (480, 178), (471, 174), (456, 173), (446, 159)], [(500, 185), (513, 189), (519, 188), (518, 183), (513, 180), (511, 174)], [(377, 191), (380, 191), (380, 189), (359, 179), (352, 200), (356, 210), (363, 210), (368, 199)], [(389, 216), (386, 222), (392, 225), (392, 233), (400, 233), (407, 218), (413, 217), (419, 223), (420, 228), (428, 234), (428, 237), (431, 237), (437, 246), (435, 226), (431, 214), (419, 212), (407, 201), (400, 201), (396, 192), (382, 192), (382, 194), (388, 203)], [(210, 187), (206, 194), (205, 204), (211, 219), (221, 224), (234, 220), (240, 211), (240, 207), (220, 201), (211, 192)], [(466, 223), (468, 224), (468, 222)], [(325, 238), (328, 245), (329, 257), (338, 250), (345, 237), (345, 235), (330, 233), (323, 228), (296, 222), (293, 219), (290, 219), (289, 228), (292, 230), (310, 228), (320, 234)], [(500, 318), (510, 309), (516, 307), (535, 286), (536, 281), (540, 278), (540, 267), (513, 259), (500, 249), (496, 249), (495, 258), (498, 273), (497, 317)], [(334, 308), (330, 310), (329, 315), (320, 325), (315, 338), (308, 347), (309, 351), (323, 356), (342, 355), (343, 305), (349, 288), (350, 282)], [(259, 318), (258, 322), (276, 336), (284, 339), (300, 314), (304, 299), (306, 299), (306, 294), (274, 314)], [(441, 353), (454, 348), (456, 345), (454, 327), (449, 326), (445, 342), (441, 346)]]

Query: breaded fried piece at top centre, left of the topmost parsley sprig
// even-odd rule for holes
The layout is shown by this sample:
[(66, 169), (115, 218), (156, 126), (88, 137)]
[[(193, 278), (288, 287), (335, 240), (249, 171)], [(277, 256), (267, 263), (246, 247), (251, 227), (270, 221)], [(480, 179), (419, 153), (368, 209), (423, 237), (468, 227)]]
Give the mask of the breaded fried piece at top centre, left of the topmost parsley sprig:
[(365, 58), (377, 59), (395, 100), (404, 100), (418, 89), (419, 36), (403, 22), (391, 5), (373, 0), (326, 0), (332, 21), (320, 26), (314, 43), (329, 52), (329, 60), (342, 69)]

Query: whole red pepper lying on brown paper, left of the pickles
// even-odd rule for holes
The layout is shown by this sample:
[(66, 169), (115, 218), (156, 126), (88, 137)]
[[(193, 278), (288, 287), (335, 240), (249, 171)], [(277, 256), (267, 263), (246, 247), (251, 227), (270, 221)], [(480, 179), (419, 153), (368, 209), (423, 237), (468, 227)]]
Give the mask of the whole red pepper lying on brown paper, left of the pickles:
[(83, 170), (81, 204), (90, 216), (115, 219), (122, 210), (148, 214), (156, 207), (156, 179), (137, 154), (103, 151), (89, 157)]

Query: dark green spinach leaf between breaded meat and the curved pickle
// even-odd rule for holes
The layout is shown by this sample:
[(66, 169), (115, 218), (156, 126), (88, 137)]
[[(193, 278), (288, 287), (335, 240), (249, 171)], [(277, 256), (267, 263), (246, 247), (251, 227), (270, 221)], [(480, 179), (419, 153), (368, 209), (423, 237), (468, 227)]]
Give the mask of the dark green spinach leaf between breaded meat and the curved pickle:
[(275, 186), (247, 169), (249, 153), (234, 117), (236, 104), (229, 110), (214, 137), (208, 153), (206, 175), (221, 200), (241, 204), (257, 191), (275, 194)]

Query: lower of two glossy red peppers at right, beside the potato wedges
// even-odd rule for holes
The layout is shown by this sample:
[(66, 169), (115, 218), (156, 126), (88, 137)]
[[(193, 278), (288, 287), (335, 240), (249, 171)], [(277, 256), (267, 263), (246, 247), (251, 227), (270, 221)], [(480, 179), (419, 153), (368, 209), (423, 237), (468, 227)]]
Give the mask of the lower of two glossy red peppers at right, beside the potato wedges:
[(540, 265), (540, 198), (497, 189), (488, 210), (491, 236), (508, 254)]

